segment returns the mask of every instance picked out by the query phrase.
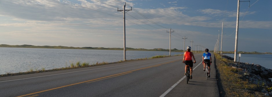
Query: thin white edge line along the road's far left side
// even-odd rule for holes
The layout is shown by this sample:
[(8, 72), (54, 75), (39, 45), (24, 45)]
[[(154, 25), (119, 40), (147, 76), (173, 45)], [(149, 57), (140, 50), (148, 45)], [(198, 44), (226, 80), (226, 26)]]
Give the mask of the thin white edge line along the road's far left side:
[[(170, 58), (173, 58), (173, 57), (170, 57)], [(169, 58), (163, 58), (163, 59), (169, 59)], [(162, 60), (162, 59), (157, 59), (157, 60)], [(156, 60), (150, 60), (150, 61), (156, 61)], [(143, 61), (143, 62), (149, 62), (149, 61)], [(143, 63), (143, 62), (137, 62), (137, 63)], [(129, 63), (129, 64), (135, 64), (135, 63)], [(129, 64), (124, 64), (124, 65), (129, 65)], [(117, 66), (122, 66), (122, 65), (117, 65)], [(111, 66), (111, 67), (116, 67), (116, 66)], [(109, 68), (109, 67), (103, 67), (103, 68)], [(96, 69), (102, 69), (102, 68), (96, 68)], [(88, 69), (88, 70), (95, 70), (95, 69)], [(88, 70), (81, 70), (81, 71), (88, 71)], [(73, 72), (67, 72), (67, 73), (74, 73), (74, 72), (80, 72), (80, 71), (73, 71)], [(65, 74), (65, 73), (59, 73), (59, 74)], [(52, 75), (59, 75), (59, 74), (52, 74)], [(37, 77), (45, 77), (45, 76), (52, 76), (52, 75), (44, 75), (44, 76), (37, 76)], [(30, 78), (37, 78), (37, 77), (30, 77)], [(30, 79), (30, 78), (23, 78), (23, 79)], [(10, 82), (10, 81), (16, 81), (16, 80), (23, 80), (23, 79), (14, 79), (14, 80), (2, 81), (2, 82)]]

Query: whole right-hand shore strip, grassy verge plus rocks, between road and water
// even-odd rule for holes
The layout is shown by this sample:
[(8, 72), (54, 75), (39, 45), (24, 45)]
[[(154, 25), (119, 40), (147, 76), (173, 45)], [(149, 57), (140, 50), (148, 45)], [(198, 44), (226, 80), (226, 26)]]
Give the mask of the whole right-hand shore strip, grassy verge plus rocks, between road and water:
[(220, 96), (272, 96), (271, 69), (256, 64), (234, 62), (234, 58), (227, 55), (221, 57), (220, 54), (214, 53), (214, 56)]

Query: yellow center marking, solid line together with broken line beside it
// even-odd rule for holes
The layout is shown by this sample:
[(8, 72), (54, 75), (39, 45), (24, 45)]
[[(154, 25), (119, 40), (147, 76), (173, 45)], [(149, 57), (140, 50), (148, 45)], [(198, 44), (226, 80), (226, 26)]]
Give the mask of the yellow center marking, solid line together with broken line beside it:
[[(179, 60), (176, 60), (176, 61), (179, 61)], [(156, 66), (160, 66), (160, 65), (168, 64), (168, 63), (172, 63), (172, 62), (175, 62), (175, 61), (171, 61), (171, 62), (167, 62), (167, 63), (162, 63), (162, 64), (158, 64), (158, 65), (153, 65), (153, 66), (149, 66), (149, 67), (144, 67), (144, 68), (140, 68), (140, 69), (136, 69), (136, 70), (132, 70), (132, 71), (127, 71), (127, 72), (123, 72), (123, 73), (118, 73), (118, 74), (110, 75), (110, 76), (106, 76), (106, 77), (100, 77), (100, 78), (97, 78), (97, 79), (92, 79), (92, 80), (88, 80), (88, 81), (84, 81), (84, 82), (79, 82), (79, 83), (75, 83), (75, 84), (70, 84), (70, 85), (66, 85), (66, 86), (61, 86), (61, 87), (57, 87), (57, 88), (52, 88), (52, 89), (48, 89), (48, 90), (43, 90), (43, 91), (39, 91), (39, 92), (35, 92), (35, 93), (25, 94), (25, 95), (17, 96), (17, 97), (29, 96), (29, 95), (38, 94), (38, 93), (41, 93), (41, 92), (46, 92), (46, 91), (50, 91), (50, 90), (55, 90), (55, 89), (59, 89), (59, 88), (73, 86), (73, 85), (76, 85), (76, 84), (96, 82), (96, 81), (100, 81), (100, 80), (103, 80), (103, 79), (108, 79), (108, 78), (112, 78), (112, 77), (116, 77), (116, 76), (120, 76), (120, 75), (125, 75), (125, 74), (128, 74), (128, 73), (132, 73), (133, 71), (138, 71), (138, 70), (141, 70), (141, 69), (147, 69), (147, 68), (151, 68), (151, 67), (156, 67)], [(34, 95), (34, 96), (38, 96), (38, 95)]]

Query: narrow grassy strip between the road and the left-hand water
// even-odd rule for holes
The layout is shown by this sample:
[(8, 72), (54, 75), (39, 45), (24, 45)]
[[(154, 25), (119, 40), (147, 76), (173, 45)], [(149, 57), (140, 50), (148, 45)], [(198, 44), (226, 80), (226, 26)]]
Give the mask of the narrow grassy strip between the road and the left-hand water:
[[(172, 56), (179, 56), (179, 55), (172, 55)], [(120, 60), (118, 62), (112, 62), (112, 63), (108, 63), (108, 62), (99, 63), (99, 62), (96, 62), (96, 63), (91, 63), (90, 64), (90, 63), (86, 63), (86, 62), (81, 63), (80, 61), (77, 61), (76, 63), (74, 63), (73, 61), (70, 61), (69, 66), (68, 66), (68, 64), (66, 64), (66, 67), (62, 67), (62, 68), (56, 68), (56, 69), (50, 69), (50, 70), (45, 70), (44, 67), (41, 70), (31, 68), (27, 72), (19, 72), (19, 73), (9, 73), (9, 72), (7, 72), (6, 74), (0, 75), (0, 77), (14, 76), (14, 75), (24, 75), (24, 74), (32, 74), (32, 73), (41, 73), (41, 72), (50, 72), (50, 71), (59, 71), (59, 70), (67, 70), (67, 69), (76, 69), (76, 68), (84, 68), (84, 67), (93, 67), (93, 66), (99, 66), (99, 65), (108, 65), (108, 64), (139, 61), (139, 60), (147, 60), (147, 59), (155, 59), (155, 58), (163, 58), (163, 57), (170, 57), (170, 56), (169, 55), (158, 55), (158, 56), (153, 56), (153, 57), (150, 57), (150, 58), (131, 59), (131, 60), (125, 60), (125, 61)]]

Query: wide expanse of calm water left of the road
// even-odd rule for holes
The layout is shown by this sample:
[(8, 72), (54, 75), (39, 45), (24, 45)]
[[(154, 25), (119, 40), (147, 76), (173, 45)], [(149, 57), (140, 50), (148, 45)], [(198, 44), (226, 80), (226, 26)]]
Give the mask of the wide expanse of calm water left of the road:
[[(171, 55), (183, 52), (171, 52)], [(169, 55), (166, 51), (126, 51), (126, 59), (149, 58)], [(70, 63), (117, 62), (124, 60), (120, 50), (82, 50), (82, 49), (37, 49), (0, 47), (0, 74), (69, 67)]]

